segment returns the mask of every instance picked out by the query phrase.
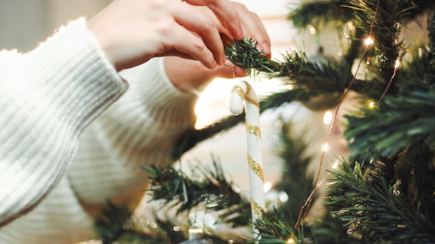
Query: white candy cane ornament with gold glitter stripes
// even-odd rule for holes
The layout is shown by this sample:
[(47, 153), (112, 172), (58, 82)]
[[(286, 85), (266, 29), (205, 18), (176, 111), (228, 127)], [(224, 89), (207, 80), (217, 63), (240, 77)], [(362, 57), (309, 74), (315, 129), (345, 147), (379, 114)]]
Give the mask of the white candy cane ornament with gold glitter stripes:
[[(263, 191), (263, 165), (261, 161), (260, 107), (254, 89), (246, 81), (233, 87), (229, 100), (229, 110), (234, 115), (243, 112), (245, 102), (245, 120), (247, 129), (247, 162), (249, 164), (249, 187), (251, 193), (252, 222), (261, 218), (265, 209)], [(254, 229), (254, 233), (257, 230)]]

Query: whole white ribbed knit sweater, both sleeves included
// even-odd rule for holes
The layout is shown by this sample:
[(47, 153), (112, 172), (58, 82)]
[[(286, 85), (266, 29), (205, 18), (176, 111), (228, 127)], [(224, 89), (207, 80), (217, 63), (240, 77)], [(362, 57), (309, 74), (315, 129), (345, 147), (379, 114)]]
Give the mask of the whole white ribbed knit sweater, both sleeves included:
[(102, 202), (134, 206), (140, 167), (168, 163), (197, 96), (172, 86), (161, 58), (121, 76), (128, 92), (84, 21), (26, 55), (0, 52), (1, 244), (88, 240)]

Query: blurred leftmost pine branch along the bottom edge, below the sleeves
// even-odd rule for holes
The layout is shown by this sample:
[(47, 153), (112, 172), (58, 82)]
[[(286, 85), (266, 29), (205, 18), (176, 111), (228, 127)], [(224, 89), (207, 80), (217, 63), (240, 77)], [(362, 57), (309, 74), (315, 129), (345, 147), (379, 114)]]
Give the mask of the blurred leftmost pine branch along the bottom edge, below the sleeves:
[[(144, 216), (136, 216), (125, 205), (107, 201), (97, 218), (96, 239), (104, 244), (177, 244), (188, 239), (188, 229), (192, 226), (190, 220), (180, 221), (179, 216), (174, 218), (165, 214), (162, 217), (157, 216), (156, 211), (153, 213), (144, 221)], [(203, 238), (215, 244), (227, 244), (230, 240), (233, 244), (247, 242), (243, 236), (211, 229), (203, 233)]]

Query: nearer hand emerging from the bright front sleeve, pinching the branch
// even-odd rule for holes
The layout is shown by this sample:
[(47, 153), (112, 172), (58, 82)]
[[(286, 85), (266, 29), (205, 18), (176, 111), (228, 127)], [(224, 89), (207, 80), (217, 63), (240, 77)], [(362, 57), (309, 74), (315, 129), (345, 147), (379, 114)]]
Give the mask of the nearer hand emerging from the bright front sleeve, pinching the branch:
[[(213, 15), (200, 11), (202, 6)], [(115, 0), (88, 21), (88, 28), (117, 71), (166, 55), (199, 60), (212, 69), (224, 64), (220, 33), (243, 38), (227, 0)]]

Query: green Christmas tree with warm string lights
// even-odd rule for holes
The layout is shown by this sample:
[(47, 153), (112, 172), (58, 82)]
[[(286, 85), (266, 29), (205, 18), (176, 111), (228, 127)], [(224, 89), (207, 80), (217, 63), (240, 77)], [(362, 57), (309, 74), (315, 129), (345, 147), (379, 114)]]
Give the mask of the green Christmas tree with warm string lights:
[[(311, 110), (336, 108), (326, 143), (344, 99), (356, 94), (356, 110), (345, 116), (343, 151), (349, 153), (336, 155), (338, 167), (329, 171), (325, 193), (318, 191), (323, 182), (319, 172), (307, 171), (309, 143), (291, 133), (292, 123), (283, 123), (278, 153), (285, 164), (275, 190), (288, 199), (268, 206), (254, 223), (249, 200), (227, 180), (217, 159), (213, 170), (196, 168), (195, 178), (172, 166), (145, 168), (152, 175), (151, 199), (165, 202), (186, 220), (198, 209), (217, 213), (217, 221), (228, 228), (214, 232), (204, 227), (203, 242), (435, 243), (434, 18), (435, 1), (309, 2), (290, 12), (288, 20), (301, 30), (336, 28), (343, 34), (339, 58), (319, 62), (303, 50), (290, 50), (281, 61), (268, 60), (250, 39), (236, 40), (226, 50), (227, 58), (249, 75), (280, 78), (291, 87), (263, 99), (261, 112), (296, 102)], [(427, 33), (407, 40), (403, 33), (411, 23), (427, 26)], [(244, 117), (230, 116), (192, 130), (172, 157), (178, 159)], [(313, 202), (319, 200), (327, 211), (308, 221)], [(110, 202), (106, 209), (97, 225), (104, 243), (181, 243), (193, 225), (168, 216), (140, 221)], [(256, 235), (238, 231), (252, 224)]]

